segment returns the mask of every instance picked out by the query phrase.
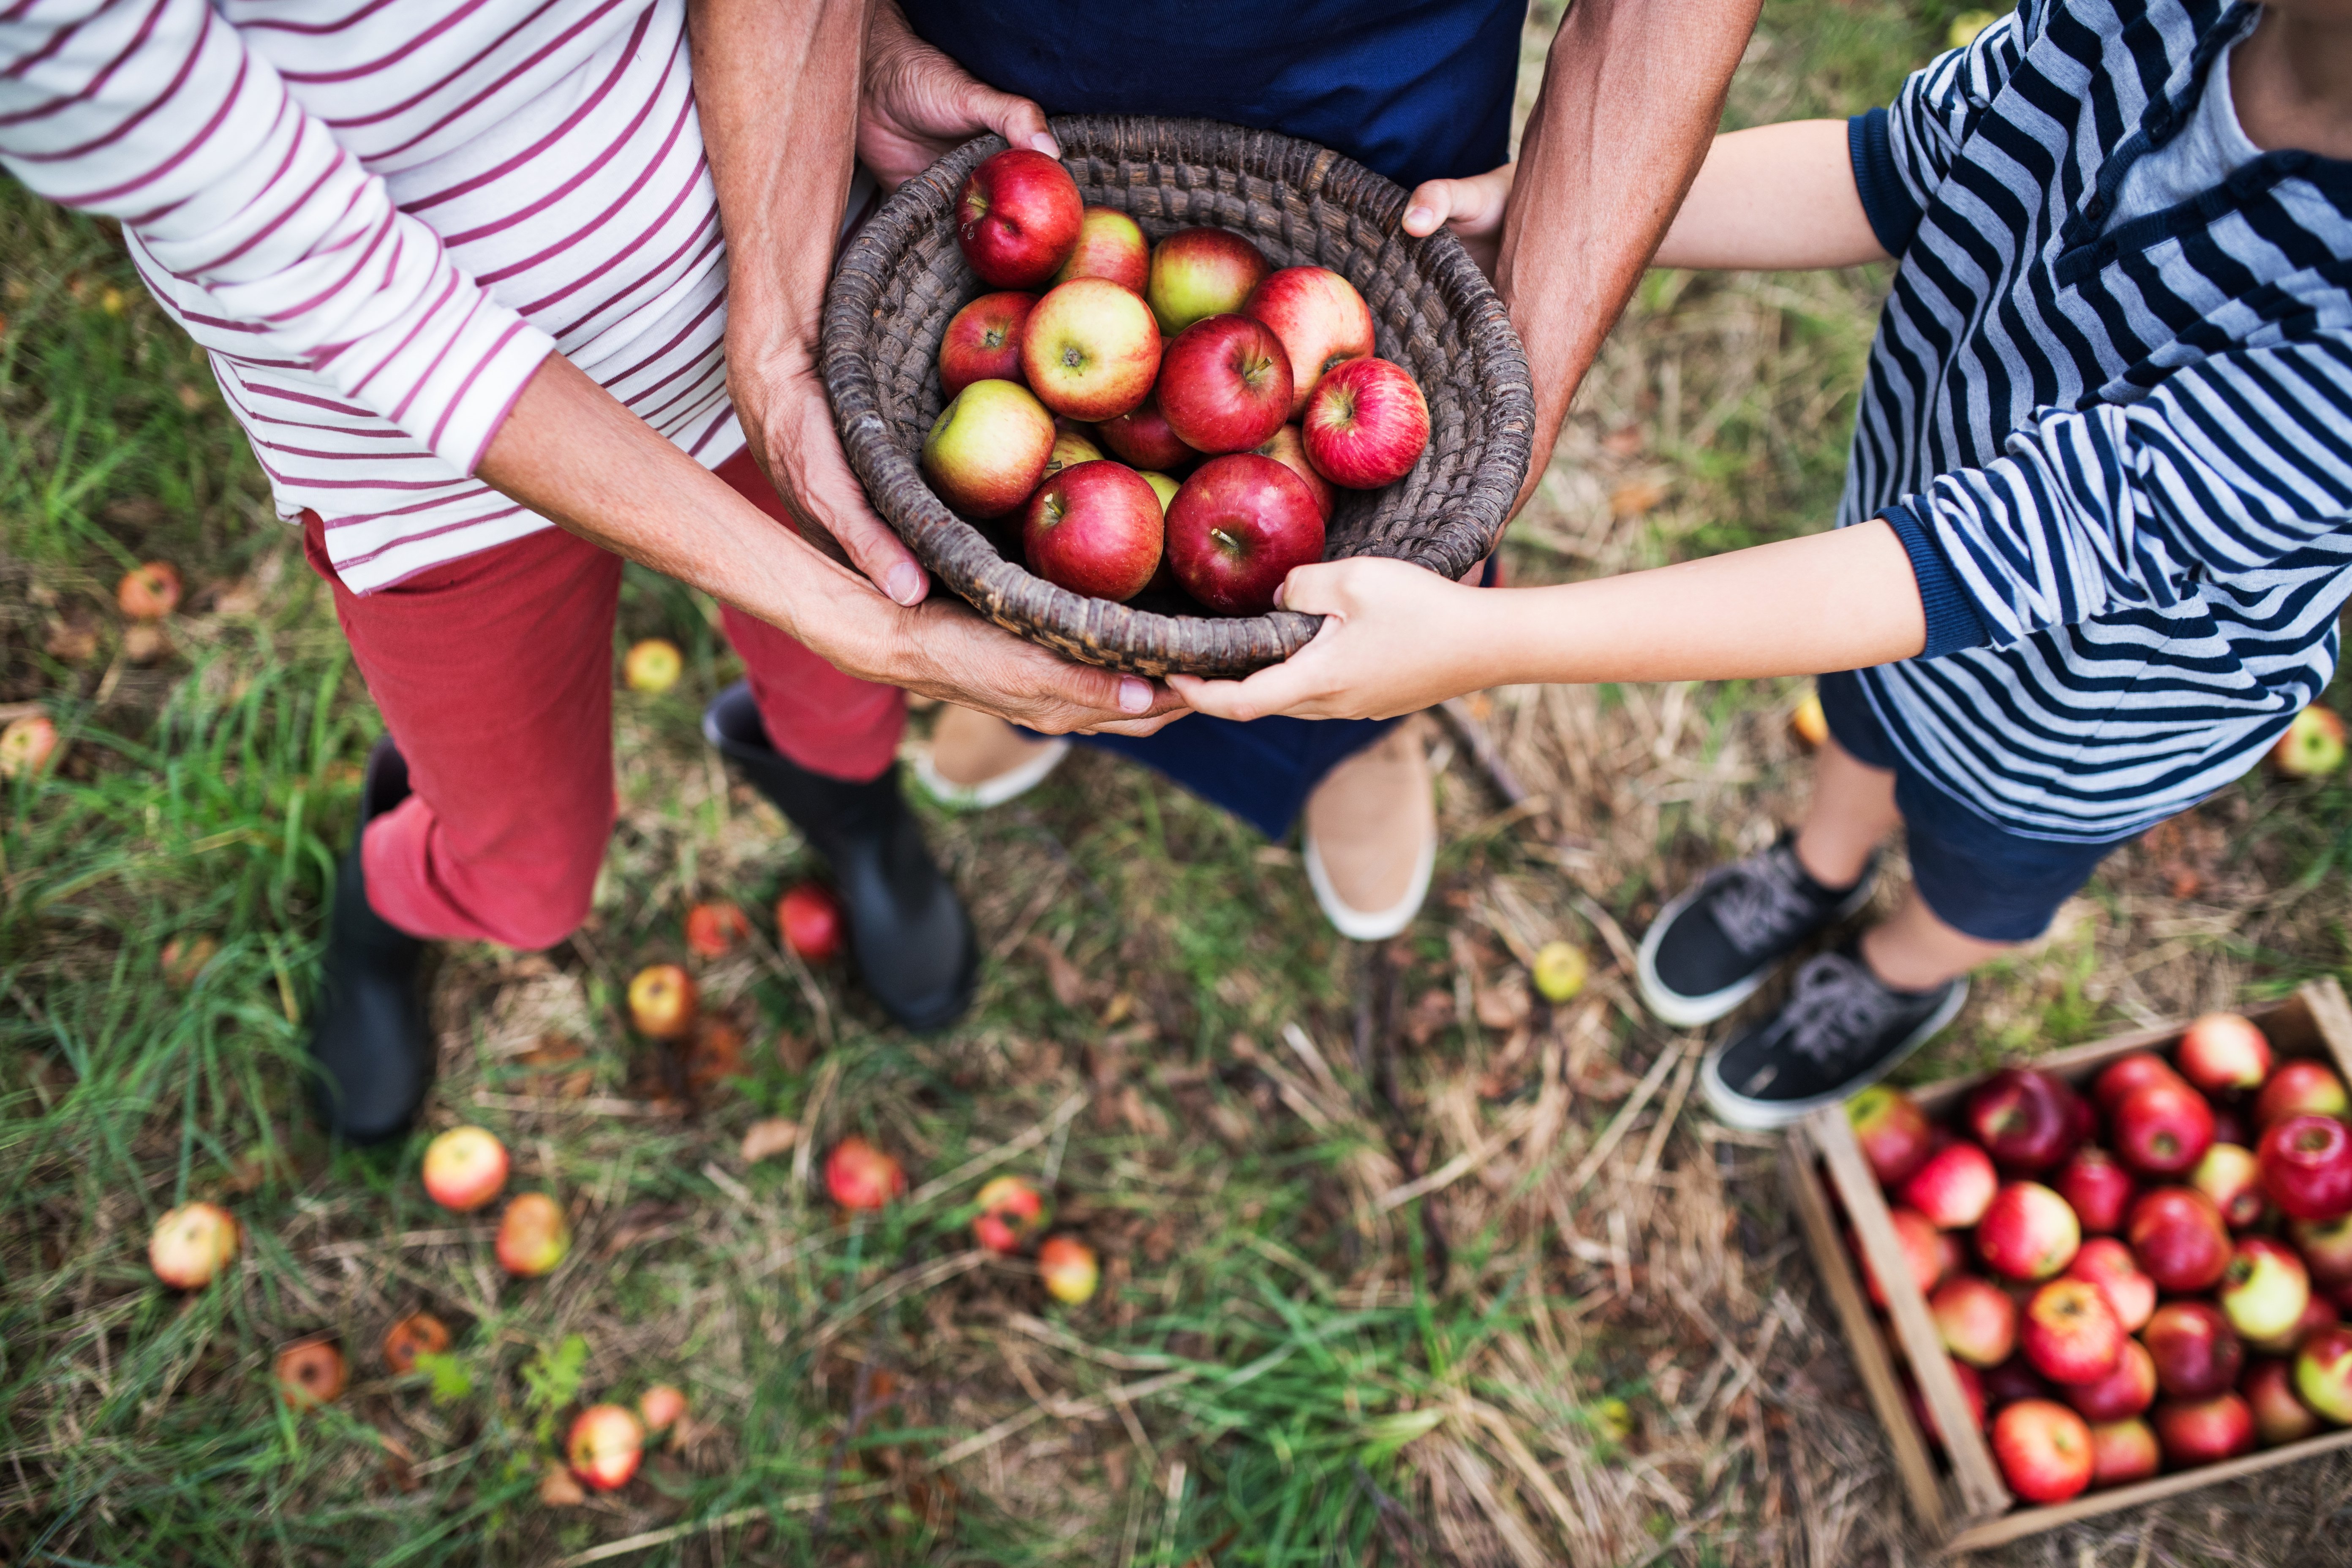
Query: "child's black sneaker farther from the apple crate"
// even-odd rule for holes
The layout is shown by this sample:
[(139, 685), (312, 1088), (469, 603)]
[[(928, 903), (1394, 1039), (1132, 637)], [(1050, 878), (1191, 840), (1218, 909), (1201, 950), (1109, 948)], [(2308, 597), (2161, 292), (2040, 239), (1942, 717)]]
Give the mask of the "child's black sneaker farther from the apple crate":
[(1797, 860), (1795, 835), (1762, 856), (1708, 872), (1705, 882), (1658, 910), (1635, 983), (1642, 1001), (1677, 1030), (1715, 1023), (1816, 931), (1842, 922), (1870, 898), (1879, 858), (1849, 889), (1825, 889)]

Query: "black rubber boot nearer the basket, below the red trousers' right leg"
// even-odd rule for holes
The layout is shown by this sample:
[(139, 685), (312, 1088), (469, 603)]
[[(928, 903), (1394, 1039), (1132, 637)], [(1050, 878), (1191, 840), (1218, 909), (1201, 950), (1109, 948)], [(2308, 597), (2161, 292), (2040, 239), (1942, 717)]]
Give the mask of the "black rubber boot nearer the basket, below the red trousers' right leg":
[(964, 900), (922, 842), (898, 764), (870, 783), (826, 778), (786, 759), (736, 682), (703, 710), (703, 738), (809, 835), (849, 910), (849, 952), (882, 1011), (910, 1030), (946, 1030), (971, 1006), (981, 943)]

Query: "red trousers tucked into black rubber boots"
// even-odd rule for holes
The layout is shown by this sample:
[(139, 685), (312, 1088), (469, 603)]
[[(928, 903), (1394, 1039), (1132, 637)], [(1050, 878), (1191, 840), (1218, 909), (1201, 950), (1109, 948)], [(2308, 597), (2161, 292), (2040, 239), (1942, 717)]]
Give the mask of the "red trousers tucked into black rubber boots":
[[(750, 454), (717, 475), (793, 527)], [(614, 823), (621, 557), (548, 529), (360, 597), (329, 569), (315, 512), (303, 550), (334, 588), (414, 790), (367, 827), (367, 903), (423, 938), (548, 947), (569, 936)], [(889, 766), (903, 691), (842, 675), (739, 609), (724, 625), (779, 752), (833, 778)]]

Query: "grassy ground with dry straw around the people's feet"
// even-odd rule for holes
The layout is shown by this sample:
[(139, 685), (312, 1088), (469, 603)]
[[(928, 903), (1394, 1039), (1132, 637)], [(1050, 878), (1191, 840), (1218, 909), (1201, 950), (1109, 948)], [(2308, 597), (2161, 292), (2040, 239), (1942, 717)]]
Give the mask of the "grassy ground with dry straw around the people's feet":
[[(1531, 24), (1531, 52), (1550, 16)], [(1884, 99), (1950, 16), (1773, 0), (1731, 122)], [(376, 717), (332, 604), (118, 240), (16, 188), (0, 259), (0, 703), (61, 766), (0, 818), (0, 1554), (24, 1563), (1907, 1563), (1884, 1446), (1788, 1232), (1766, 1140), (1689, 1095), (1698, 1039), (1609, 961), (1658, 900), (1802, 802), (1780, 684), (1508, 689), (1468, 705), (1541, 809), (1430, 726), (1446, 851), (1376, 950), (1294, 849), (1080, 755), (1016, 806), (934, 816), (993, 961), (908, 1039), (767, 943), (699, 961), (746, 1034), (696, 1084), (619, 1023), (701, 896), (809, 870), (696, 736), (731, 675), (708, 602), (628, 574), (623, 639), (689, 675), (619, 708), (621, 827), (588, 926), (442, 957), (430, 1128), (482, 1121), (579, 1244), (503, 1281), (433, 1208), (423, 1140), (327, 1147), (301, 1039), (320, 907)], [(1519, 581), (1820, 527), (1884, 275), (1653, 275), (1517, 524)], [(134, 663), (113, 578), (191, 578)], [(2343, 696), (2338, 693), (2338, 703)], [(2352, 969), (2345, 785), (2249, 776), (2119, 853), (1990, 966), (1910, 1072), (2265, 999)], [(757, 922), (769, 931), (767, 922)], [(1524, 992), (1550, 936), (1578, 1001)], [(174, 938), (212, 938), (193, 985)], [(741, 1157), (760, 1119), (800, 1147)], [(840, 1225), (816, 1150), (863, 1131), (920, 1201)], [(1047, 1180), (1105, 1288), (1051, 1307), (969, 1253), (974, 1157)], [(1454, 1180), (1392, 1199), (1430, 1173)], [(249, 1227), (162, 1293), (143, 1239), (212, 1197)], [(430, 1371), (376, 1340), (428, 1307)], [(275, 1352), (334, 1335), (308, 1415)], [(541, 1500), (590, 1399), (673, 1380), (644, 1479)], [(2027, 1542), (2013, 1563), (2319, 1561), (2352, 1469)], [(2204, 1500), (2227, 1507), (2209, 1516)], [(602, 1547), (642, 1540), (616, 1556)]]

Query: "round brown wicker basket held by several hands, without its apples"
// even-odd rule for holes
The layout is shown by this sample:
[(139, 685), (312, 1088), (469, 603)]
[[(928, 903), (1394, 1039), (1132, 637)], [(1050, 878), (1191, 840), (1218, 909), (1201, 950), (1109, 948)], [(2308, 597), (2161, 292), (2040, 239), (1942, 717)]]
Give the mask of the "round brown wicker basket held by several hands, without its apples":
[[(1430, 404), (1430, 447), (1397, 484), (1341, 491), (1327, 559), (1392, 555), (1461, 578), (1494, 550), (1526, 477), (1534, 390), (1503, 303), (1451, 235), (1399, 230), (1404, 190), (1291, 136), (1214, 120), (1075, 115), (1051, 122), (1089, 205), (1129, 212), (1150, 240), (1195, 223), (1249, 235), (1275, 266), (1352, 282), (1381, 355)], [(1190, 599), (1089, 599), (1033, 576), (1018, 536), (950, 512), (915, 465), (943, 407), (938, 341), (985, 289), (955, 244), (955, 193), (1004, 148), (981, 136), (908, 181), (851, 240), (826, 299), (826, 390), (875, 510), (981, 614), (1070, 658), (1136, 675), (1247, 675), (1296, 654), (1317, 616), (1185, 614)]]

